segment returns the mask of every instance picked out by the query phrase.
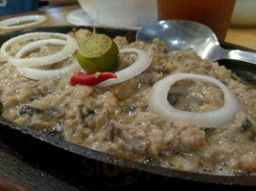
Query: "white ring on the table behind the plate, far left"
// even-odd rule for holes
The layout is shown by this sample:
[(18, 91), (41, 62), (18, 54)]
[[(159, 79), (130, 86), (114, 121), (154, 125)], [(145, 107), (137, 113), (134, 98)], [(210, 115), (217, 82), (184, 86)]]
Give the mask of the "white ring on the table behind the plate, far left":
[[(29, 27), (29, 26), (33, 26), (33, 25), (42, 23), (45, 20), (46, 20), (46, 16), (38, 15), (38, 14), (26, 15), (26, 16), (16, 16), (13, 18), (2, 20), (0, 22), (0, 29), (11, 30), (11, 29), (17, 29), (17, 28), (24, 28), (24, 27)], [(19, 23), (25, 22), (25, 21), (32, 21), (32, 22), (22, 24), (22, 25), (10, 26), (12, 24), (19, 24)]]

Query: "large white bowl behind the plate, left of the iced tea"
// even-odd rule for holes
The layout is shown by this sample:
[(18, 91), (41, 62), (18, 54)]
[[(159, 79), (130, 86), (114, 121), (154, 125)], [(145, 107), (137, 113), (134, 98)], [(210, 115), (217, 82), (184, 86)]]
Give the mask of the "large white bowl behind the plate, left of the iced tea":
[(157, 20), (156, 0), (79, 0), (79, 3), (104, 26), (137, 28)]

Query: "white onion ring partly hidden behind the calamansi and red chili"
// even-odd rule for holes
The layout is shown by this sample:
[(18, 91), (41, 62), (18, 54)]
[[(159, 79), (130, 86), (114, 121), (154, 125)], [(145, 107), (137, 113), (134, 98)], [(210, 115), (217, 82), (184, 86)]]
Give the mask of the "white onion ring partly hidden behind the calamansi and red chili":
[(126, 81), (138, 74), (141, 74), (151, 65), (151, 55), (145, 51), (138, 49), (123, 49), (120, 51), (120, 53), (137, 53), (137, 59), (127, 68), (116, 72), (115, 74), (117, 75), (117, 78), (107, 79), (104, 82), (98, 84), (97, 87), (110, 86)]

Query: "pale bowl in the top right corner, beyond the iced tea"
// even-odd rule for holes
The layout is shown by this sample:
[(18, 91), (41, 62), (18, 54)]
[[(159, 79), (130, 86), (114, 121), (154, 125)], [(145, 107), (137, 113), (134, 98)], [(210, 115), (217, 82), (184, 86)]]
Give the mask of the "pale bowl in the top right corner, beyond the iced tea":
[(232, 26), (256, 26), (256, 0), (237, 0), (231, 18)]

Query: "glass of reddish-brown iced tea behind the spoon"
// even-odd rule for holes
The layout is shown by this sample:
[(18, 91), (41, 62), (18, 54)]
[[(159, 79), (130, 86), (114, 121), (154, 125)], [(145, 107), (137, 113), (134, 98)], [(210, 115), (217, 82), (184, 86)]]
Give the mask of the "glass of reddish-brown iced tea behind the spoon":
[(224, 40), (235, 0), (157, 0), (158, 20), (184, 19), (207, 25)]

